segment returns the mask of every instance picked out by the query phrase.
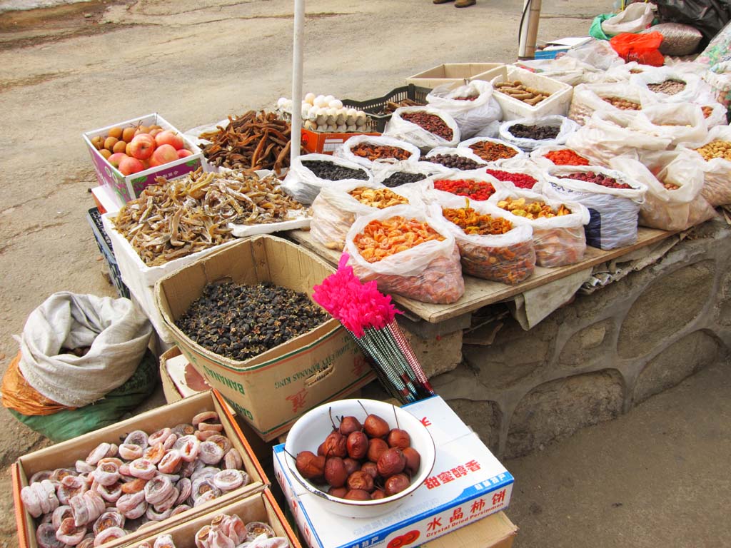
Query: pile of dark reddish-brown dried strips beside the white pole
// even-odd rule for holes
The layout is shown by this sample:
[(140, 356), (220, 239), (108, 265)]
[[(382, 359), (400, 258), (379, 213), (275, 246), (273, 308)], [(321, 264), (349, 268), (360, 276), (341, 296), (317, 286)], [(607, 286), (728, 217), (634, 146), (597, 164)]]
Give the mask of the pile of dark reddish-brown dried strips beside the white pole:
[[(201, 139), (211, 141), (203, 147), (203, 156), (211, 164), (240, 170), (274, 170), (281, 173), (289, 167), (289, 147), (292, 128), (275, 113), (248, 113), (232, 118), (225, 128), (202, 133)], [(306, 154), (304, 148), (302, 153)]]

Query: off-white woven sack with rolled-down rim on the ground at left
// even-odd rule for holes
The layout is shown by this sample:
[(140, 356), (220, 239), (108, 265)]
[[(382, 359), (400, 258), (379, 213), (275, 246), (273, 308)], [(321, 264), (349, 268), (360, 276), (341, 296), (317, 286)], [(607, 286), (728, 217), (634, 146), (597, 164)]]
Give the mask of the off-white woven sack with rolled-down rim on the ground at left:
[[(152, 325), (129, 299), (58, 292), (28, 316), (17, 338), (18, 367), (45, 397), (88, 406), (135, 373), (151, 335)], [(64, 353), (85, 347), (80, 357)]]

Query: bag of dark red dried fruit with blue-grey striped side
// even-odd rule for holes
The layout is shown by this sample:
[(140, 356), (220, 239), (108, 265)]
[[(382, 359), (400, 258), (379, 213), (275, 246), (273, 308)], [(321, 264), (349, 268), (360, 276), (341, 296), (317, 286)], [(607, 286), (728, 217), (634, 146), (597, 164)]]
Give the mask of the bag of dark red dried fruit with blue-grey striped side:
[(553, 167), (541, 189), (548, 198), (585, 205), (586, 243), (605, 250), (637, 242), (637, 217), (646, 191), (643, 183), (622, 172), (589, 166)]

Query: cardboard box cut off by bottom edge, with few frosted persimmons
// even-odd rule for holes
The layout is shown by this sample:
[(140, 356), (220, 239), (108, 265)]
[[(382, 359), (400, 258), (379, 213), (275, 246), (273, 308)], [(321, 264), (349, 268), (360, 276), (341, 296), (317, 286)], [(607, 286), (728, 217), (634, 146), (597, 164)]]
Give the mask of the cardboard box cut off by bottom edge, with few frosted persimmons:
[(211, 520), (218, 514), (237, 515), (244, 523), (268, 523), (271, 525), (274, 533), (276, 533), (276, 536), (284, 536), (289, 540), (290, 548), (301, 548), (302, 546), (295, 532), (289, 527), (289, 523), (287, 523), (272, 493), (267, 488), (255, 495), (217, 509), (210, 514), (205, 514), (205, 516), (197, 517), (195, 520), (189, 520), (188, 522), (175, 525), (175, 527), (160, 531), (155, 535), (150, 535), (143, 539), (143, 541), (150, 543), (152, 546), (159, 535), (167, 534), (173, 537), (176, 548), (196, 548), (195, 533), (200, 528), (205, 527), (205, 525), (211, 525)]

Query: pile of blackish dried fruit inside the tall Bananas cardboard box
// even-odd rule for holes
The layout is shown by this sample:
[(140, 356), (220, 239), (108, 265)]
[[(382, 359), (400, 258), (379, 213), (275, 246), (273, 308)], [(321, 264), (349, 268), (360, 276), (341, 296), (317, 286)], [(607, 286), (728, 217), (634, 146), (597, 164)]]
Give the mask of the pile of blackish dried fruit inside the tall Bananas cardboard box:
[(306, 294), (273, 283), (209, 283), (175, 324), (220, 356), (243, 361), (327, 321)]

